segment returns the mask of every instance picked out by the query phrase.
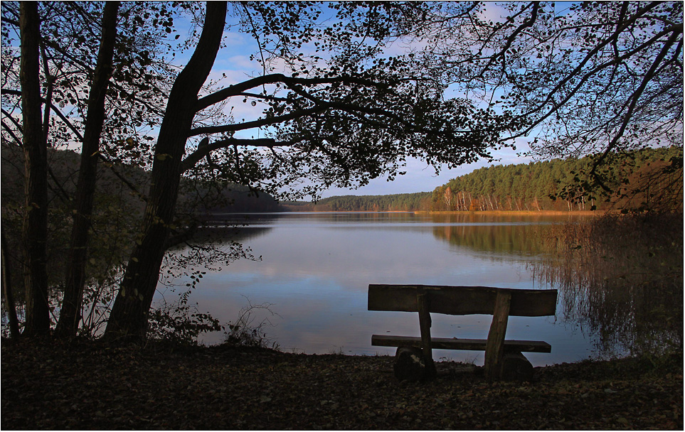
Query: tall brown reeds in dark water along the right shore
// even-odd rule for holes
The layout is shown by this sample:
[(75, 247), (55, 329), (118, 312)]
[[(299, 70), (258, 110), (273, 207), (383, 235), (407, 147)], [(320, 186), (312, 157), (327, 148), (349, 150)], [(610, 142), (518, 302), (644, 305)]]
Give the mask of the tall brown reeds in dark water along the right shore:
[(597, 336), (601, 357), (682, 352), (683, 215), (605, 215), (550, 227), (536, 278)]

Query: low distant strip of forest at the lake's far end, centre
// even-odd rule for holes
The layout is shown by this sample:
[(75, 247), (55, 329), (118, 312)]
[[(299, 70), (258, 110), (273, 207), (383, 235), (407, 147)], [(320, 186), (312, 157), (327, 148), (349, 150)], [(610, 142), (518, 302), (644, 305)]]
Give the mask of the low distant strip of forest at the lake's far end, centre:
[(395, 195), (344, 195), (313, 202), (283, 202), (291, 212), (403, 212), (430, 210), (430, 192)]

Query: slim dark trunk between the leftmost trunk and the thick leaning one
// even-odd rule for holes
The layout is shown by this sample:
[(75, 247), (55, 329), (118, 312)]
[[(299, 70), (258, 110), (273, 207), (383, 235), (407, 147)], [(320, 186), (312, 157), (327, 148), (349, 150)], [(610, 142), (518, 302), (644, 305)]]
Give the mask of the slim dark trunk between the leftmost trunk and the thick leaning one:
[(80, 321), (80, 308), (85, 284), (88, 229), (92, 216), (95, 178), (97, 175), (97, 152), (100, 150), (100, 134), (105, 122), (105, 95), (112, 76), (112, 56), (117, 36), (117, 11), (119, 1), (107, 1), (102, 13), (102, 36), (97, 64), (90, 85), (87, 117), (83, 132), (81, 164), (76, 187), (74, 220), (71, 244), (67, 257), (67, 273), (64, 285), (64, 300), (60, 309), (57, 331), (62, 336), (73, 336)]

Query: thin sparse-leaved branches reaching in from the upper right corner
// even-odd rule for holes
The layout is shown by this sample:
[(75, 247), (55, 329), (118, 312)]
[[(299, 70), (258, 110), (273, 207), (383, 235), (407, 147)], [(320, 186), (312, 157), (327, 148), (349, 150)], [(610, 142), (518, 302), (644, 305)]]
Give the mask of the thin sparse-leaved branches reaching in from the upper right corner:
[[(454, 4), (423, 23), (427, 63), (467, 97), (526, 122), (511, 141), (534, 136), (543, 158), (596, 153), (588, 174), (612, 154), (682, 144), (683, 4)], [(501, 20), (488, 16), (501, 12)]]

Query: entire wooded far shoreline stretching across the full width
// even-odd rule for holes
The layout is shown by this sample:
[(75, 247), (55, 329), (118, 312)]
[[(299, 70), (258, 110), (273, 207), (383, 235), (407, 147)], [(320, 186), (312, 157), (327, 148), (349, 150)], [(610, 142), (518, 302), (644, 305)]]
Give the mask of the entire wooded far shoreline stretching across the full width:
[[(53, 206), (68, 213), (78, 177), (80, 156), (73, 151), (50, 150), (50, 195)], [(241, 185), (184, 180), (177, 214), (192, 218), (202, 213), (278, 211), (483, 211), (483, 210), (598, 210), (607, 208), (683, 207), (683, 148), (647, 148), (615, 158), (602, 168), (612, 193), (588, 193), (588, 172), (593, 158), (553, 159), (507, 166), (479, 168), (435, 190), (395, 195), (344, 195), (313, 202), (278, 202), (266, 193), (251, 193)], [(139, 193), (147, 192), (149, 172), (137, 166), (108, 163), (100, 166), (98, 196), (101, 211), (140, 212)], [(122, 180), (124, 179), (124, 180)], [(117, 190), (117, 200), (112, 192)], [(23, 205), (23, 152), (2, 146), (2, 207), (4, 220)], [(16, 211), (16, 210), (15, 210)], [(97, 210), (96, 210), (97, 212)], [(18, 216), (15, 213), (15, 216)]]

